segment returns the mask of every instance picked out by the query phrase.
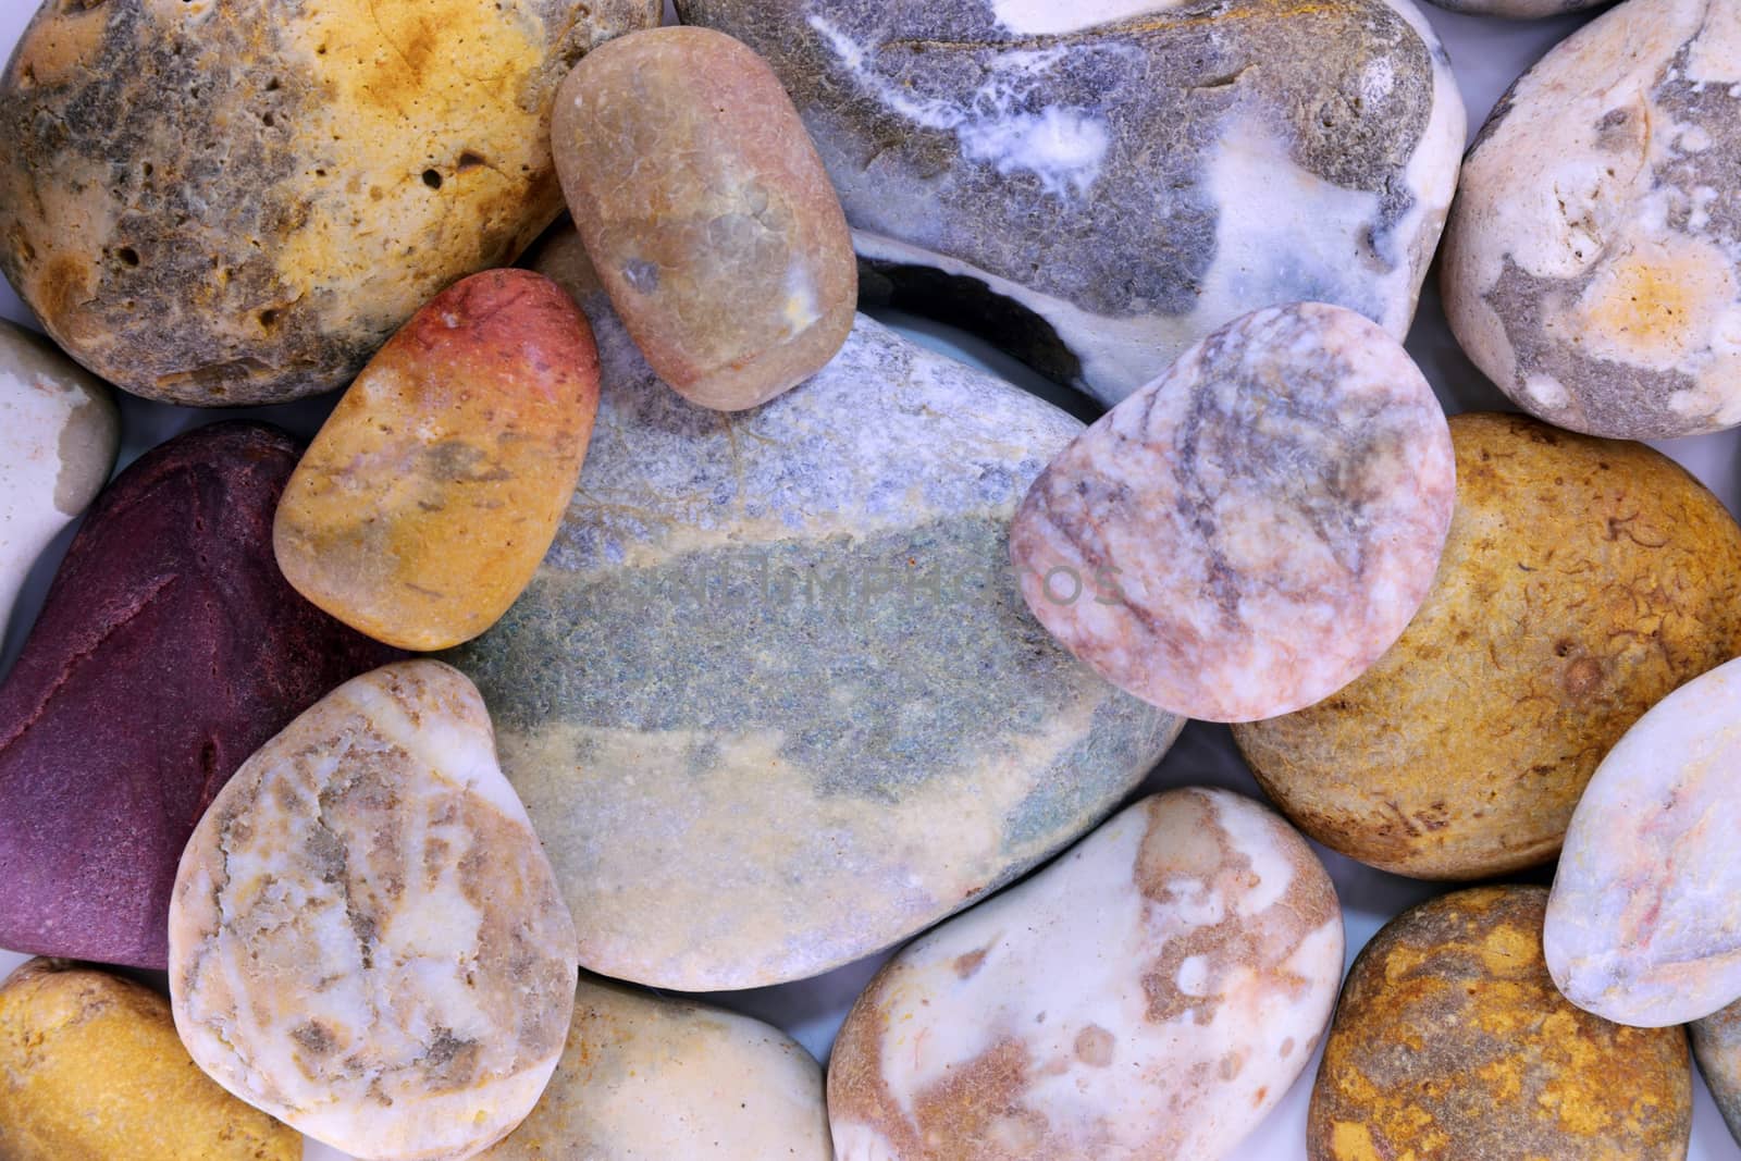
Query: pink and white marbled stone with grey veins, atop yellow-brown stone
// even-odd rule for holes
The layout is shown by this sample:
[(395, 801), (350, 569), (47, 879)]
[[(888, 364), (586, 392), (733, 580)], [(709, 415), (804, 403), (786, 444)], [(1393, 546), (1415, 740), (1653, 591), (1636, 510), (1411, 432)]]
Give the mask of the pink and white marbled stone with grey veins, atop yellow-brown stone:
[(1403, 348), (1339, 306), (1240, 319), (1034, 482), (1010, 555), (1076, 656), (1187, 717), (1325, 698), (1433, 583), (1455, 470)]

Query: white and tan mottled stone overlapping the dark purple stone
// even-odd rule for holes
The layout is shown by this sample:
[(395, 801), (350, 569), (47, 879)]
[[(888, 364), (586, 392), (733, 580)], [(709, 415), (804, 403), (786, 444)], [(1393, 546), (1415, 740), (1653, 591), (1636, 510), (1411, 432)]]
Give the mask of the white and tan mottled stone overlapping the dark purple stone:
[(200, 820), (169, 996), (232, 1093), (367, 1161), (468, 1158), (550, 1081), (575, 923), (463, 674), (355, 677)]

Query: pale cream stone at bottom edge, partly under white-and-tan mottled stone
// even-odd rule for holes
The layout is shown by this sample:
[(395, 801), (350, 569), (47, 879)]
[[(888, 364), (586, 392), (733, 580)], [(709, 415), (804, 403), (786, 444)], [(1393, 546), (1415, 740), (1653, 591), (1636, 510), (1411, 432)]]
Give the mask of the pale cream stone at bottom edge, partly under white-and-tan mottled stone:
[(581, 978), (543, 1100), (481, 1161), (830, 1161), (822, 1069), (761, 1020)]

